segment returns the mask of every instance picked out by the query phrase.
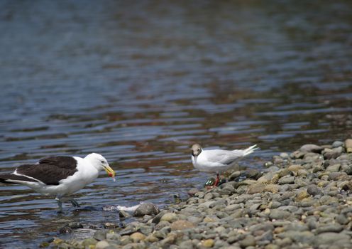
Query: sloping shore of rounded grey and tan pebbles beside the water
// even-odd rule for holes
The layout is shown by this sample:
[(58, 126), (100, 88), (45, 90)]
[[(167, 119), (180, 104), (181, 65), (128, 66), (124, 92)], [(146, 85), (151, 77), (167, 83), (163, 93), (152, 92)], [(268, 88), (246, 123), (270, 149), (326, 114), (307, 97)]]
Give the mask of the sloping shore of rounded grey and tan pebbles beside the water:
[[(215, 189), (136, 221), (112, 223), (84, 240), (55, 238), (50, 248), (352, 248), (352, 139), (305, 144), (265, 169), (235, 171)], [(150, 213), (148, 213), (150, 212)], [(121, 219), (129, 216), (121, 211)]]

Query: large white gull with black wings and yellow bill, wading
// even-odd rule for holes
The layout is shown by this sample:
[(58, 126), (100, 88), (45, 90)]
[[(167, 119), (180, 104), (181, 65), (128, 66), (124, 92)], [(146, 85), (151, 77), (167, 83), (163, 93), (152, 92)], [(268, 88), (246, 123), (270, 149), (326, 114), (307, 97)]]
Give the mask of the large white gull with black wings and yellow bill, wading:
[[(92, 153), (84, 158), (47, 157), (36, 164), (18, 166), (13, 173), (0, 174), (0, 182), (22, 184), (40, 194), (56, 196), (59, 211), (62, 211), (62, 196), (83, 189), (97, 179), (102, 170), (115, 181), (115, 171), (101, 154)], [(73, 206), (79, 206), (74, 198), (69, 201)]]

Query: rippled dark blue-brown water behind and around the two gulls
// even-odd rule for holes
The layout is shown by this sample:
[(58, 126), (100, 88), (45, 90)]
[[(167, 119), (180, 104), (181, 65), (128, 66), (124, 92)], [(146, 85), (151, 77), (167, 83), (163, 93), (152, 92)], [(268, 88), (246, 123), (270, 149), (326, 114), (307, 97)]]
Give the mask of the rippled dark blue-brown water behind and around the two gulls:
[(351, 137), (351, 11), (351, 1), (0, 1), (0, 172), (90, 152), (117, 172), (62, 215), (51, 198), (1, 185), (0, 248), (35, 247), (69, 221), (118, 221), (104, 205), (185, 196), (207, 179), (192, 168), (194, 142), (258, 144), (241, 162), (258, 168)]

